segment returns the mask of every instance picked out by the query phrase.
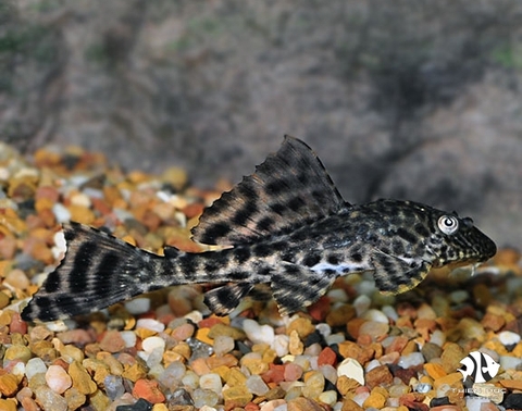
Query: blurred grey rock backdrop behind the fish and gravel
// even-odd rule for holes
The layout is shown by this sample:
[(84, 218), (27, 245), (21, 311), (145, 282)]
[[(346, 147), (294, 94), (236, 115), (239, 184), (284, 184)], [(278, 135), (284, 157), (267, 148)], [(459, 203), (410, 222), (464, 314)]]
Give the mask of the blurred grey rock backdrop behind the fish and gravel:
[(3, 0), (0, 139), (238, 182), (284, 134), (345, 198), (522, 246), (522, 2)]

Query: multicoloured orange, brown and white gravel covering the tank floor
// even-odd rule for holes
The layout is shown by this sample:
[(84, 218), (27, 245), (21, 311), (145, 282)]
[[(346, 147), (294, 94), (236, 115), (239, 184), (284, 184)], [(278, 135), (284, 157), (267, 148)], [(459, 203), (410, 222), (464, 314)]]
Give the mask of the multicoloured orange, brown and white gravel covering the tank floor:
[[(158, 253), (201, 250), (189, 228), (229, 187), (187, 180), (177, 169), (125, 173), (79, 148), (26, 161), (0, 144), (0, 410), (522, 409), (522, 264), (511, 249), (472, 277), (435, 272), (397, 297), (371, 275), (340, 278), (291, 317), (248, 299), (214, 316), (204, 288), (181, 286), (71, 321), (20, 319), (63, 253), (65, 221)], [(500, 368), (483, 363), (463, 381), (475, 351)]]

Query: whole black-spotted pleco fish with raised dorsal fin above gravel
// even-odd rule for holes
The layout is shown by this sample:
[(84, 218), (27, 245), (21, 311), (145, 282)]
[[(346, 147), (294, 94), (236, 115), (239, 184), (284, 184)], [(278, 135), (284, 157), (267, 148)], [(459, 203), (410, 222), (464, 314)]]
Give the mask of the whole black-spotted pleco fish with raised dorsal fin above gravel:
[(282, 315), (316, 301), (340, 275), (370, 271), (386, 292), (415, 287), (431, 267), (477, 263), (495, 244), (459, 217), (411, 201), (345, 202), (310, 147), (285, 137), (254, 174), (204, 210), (195, 240), (226, 246), (157, 256), (71, 222), (67, 251), (24, 309), (24, 320), (51, 321), (98, 311), (162, 287), (209, 283), (217, 314), (270, 286)]

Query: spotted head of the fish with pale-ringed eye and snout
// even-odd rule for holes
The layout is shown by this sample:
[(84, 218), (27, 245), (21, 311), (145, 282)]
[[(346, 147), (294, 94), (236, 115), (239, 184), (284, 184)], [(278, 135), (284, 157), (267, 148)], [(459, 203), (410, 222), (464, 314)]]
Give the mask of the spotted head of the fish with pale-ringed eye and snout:
[(433, 265), (472, 264), (487, 261), (497, 252), (495, 242), (473, 224), (470, 217), (459, 217), (432, 209), (430, 252), (436, 257)]

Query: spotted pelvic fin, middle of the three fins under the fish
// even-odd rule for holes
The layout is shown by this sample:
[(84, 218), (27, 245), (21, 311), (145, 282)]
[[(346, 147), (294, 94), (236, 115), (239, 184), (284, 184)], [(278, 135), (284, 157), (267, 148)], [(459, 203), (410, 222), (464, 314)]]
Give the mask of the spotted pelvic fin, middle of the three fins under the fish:
[(289, 315), (319, 300), (332, 287), (336, 274), (318, 273), (307, 267), (283, 263), (274, 273), (271, 288), (281, 315)]

